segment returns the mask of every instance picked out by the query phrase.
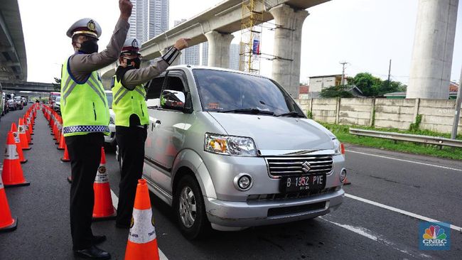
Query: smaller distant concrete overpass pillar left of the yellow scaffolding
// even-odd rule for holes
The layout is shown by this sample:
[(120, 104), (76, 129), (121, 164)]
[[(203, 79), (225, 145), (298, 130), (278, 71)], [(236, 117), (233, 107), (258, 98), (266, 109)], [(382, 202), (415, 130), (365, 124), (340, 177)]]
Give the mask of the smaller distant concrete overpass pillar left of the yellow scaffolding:
[(212, 67), (230, 67), (230, 44), (232, 34), (210, 31), (205, 33), (208, 40), (208, 65)]

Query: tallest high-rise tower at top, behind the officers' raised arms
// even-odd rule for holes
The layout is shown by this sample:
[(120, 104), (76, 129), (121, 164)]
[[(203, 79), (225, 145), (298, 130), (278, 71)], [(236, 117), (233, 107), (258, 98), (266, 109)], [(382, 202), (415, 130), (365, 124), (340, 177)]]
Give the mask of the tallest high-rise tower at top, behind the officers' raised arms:
[(168, 30), (168, 0), (131, 0), (128, 36), (141, 43)]

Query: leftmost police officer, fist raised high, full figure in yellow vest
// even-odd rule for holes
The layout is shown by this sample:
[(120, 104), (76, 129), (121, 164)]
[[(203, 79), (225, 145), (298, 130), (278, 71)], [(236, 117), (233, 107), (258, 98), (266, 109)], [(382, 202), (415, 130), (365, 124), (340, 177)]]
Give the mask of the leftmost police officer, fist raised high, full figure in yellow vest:
[(70, 232), (76, 256), (110, 259), (107, 251), (95, 247), (106, 240), (92, 234), (94, 205), (93, 183), (100, 165), (104, 134), (109, 134), (109, 109), (97, 70), (114, 63), (129, 30), (132, 4), (119, 0), (120, 17), (109, 45), (98, 53), (97, 40), (101, 28), (91, 18), (83, 18), (70, 26), (75, 53), (63, 64), (61, 72), (61, 113), (63, 134), (72, 168), (70, 188)]

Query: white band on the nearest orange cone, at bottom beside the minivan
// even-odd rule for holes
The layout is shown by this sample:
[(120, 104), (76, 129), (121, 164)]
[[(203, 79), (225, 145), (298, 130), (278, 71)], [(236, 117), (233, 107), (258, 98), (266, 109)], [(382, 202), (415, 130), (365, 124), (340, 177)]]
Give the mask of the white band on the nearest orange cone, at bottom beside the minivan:
[(129, 241), (136, 244), (145, 244), (156, 239), (156, 229), (152, 211), (133, 209), (131, 223), (133, 224), (129, 232)]

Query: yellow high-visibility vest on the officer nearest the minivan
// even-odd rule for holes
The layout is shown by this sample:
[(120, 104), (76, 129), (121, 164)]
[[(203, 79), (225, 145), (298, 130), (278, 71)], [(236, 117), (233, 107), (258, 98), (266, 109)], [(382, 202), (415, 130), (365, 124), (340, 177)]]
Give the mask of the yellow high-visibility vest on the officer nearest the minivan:
[(143, 85), (138, 85), (134, 90), (128, 90), (114, 76), (112, 87), (112, 110), (115, 114), (116, 126), (130, 126), (130, 116), (136, 114), (141, 125), (149, 124), (148, 107), (146, 106), (146, 91)]

